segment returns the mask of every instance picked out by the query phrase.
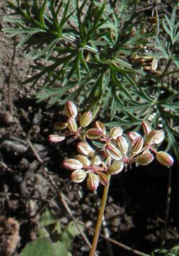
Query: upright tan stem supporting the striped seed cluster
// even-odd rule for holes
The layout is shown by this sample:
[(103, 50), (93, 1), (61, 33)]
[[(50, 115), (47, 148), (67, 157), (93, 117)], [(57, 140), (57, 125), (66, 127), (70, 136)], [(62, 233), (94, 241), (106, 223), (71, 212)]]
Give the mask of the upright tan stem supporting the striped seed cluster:
[(108, 184), (108, 186), (105, 186), (104, 191), (103, 191), (103, 198), (102, 198), (102, 202), (101, 202), (101, 206), (100, 206), (100, 211), (99, 211), (99, 214), (98, 214), (98, 220), (97, 220), (97, 224), (96, 224), (95, 235), (94, 235), (94, 238), (93, 238), (93, 244), (92, 244), (89, 256), (94, 256), (95, 252), (96, 252), (96, 247), (97, 247), (97, 244), (98, 244), (98, 238), (99, 238), (99, 234), (100, 234), (100, 227), (101, 227), (101, 223), (103, 221), (103, 214), (104, 214), (104, 211), (105, 211), (105, 203), (106, 203), (106, 200), (108, 198), (108, 191), (109, 191), (109, 186), (110, 186), (110, 175), (108, 176), (108, 181), (109, 181), (109, 184)]

